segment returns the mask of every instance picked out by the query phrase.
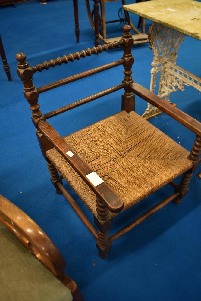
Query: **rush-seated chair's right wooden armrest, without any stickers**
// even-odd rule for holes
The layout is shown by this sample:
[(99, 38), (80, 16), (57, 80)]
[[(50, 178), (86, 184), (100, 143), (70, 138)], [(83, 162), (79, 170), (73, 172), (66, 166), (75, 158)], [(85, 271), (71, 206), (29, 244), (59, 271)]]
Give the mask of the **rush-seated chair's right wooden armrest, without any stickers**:
[(169, 116), (177, 120), (179, 123), (183, 124), (183, 126), (190, 129), (193, 133), (201, 137), (201, 123), (198, 120), (177, 109), (168, 101), (165, 101), (164, 99), (155, 95), (153, 92), (149, 91), (148, 89), (135, 82), (130, 84), (130, 89), (136, 95), (148, 101), (150, 104), (154, 105), (159, 110), (168, 114)]

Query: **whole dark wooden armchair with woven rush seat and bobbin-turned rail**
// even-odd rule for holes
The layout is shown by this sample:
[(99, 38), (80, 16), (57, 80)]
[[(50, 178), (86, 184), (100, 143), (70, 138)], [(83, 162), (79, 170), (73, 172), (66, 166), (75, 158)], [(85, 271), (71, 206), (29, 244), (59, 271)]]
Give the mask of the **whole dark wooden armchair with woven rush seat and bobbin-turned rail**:
[[(32, 110), (36, 136), (47, 162), (52, 184), (57, 193), (65, 196), (95, 237), (101, 258), (108, 256), (111, 242), (121, 234), (131, 230), (168, 202), (174, 200), (176, 204), (181, 203), (181, 199), (188, 192), (188, 184), (193, 172), (200, 162), (201, 123), (133, 81), (131, 76), (134, 61), (131, 53), (133, 39), (130, 29), (129, 25), (124, 26), (123, 37), (119, 42), (88, 48), (86, 51), (64, 55), (32, 67), (27, 63), (25, 54), (19, 53), (16, 56), (19, 62), (17, 72), (24, 83), (24, 95)], [(33, 85), (32, 76), (37, 71), (68, 63), (80, 57), (84, 58), (86, 55), (97, 54), (103, 50), (107, 51), (119, 45), (123, 46), (124, 54), (118, 61), (39, 88)], [(44, 115), (39, 110), (40, 93), (121, 64), (124, 66), (125, 75), (122, 83)], [(122, 110), (78, 132), (62, 138), (46, 121), (122, 88), (124, 89), (121, 100)], [(134, 112), (133, 92), (197, 135), (190, 153)], [(58, 172), (91, 211), (98, 231), (66, 191)], [(173, 180), (182, 173), (181, 182), (176, 185)], [(174, 192), (169, 197), (109, 237), (112, 218), (168, 183), (174, 188)]]

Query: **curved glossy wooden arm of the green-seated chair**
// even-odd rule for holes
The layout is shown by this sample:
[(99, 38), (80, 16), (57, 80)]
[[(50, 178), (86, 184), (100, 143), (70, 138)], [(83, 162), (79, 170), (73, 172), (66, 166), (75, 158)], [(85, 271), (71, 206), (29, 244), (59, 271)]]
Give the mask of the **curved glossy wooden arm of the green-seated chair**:
[(1, 194), (0, 221), (55, 276), (63, 274), (66, 262), (57, 247), (33, 219)]

